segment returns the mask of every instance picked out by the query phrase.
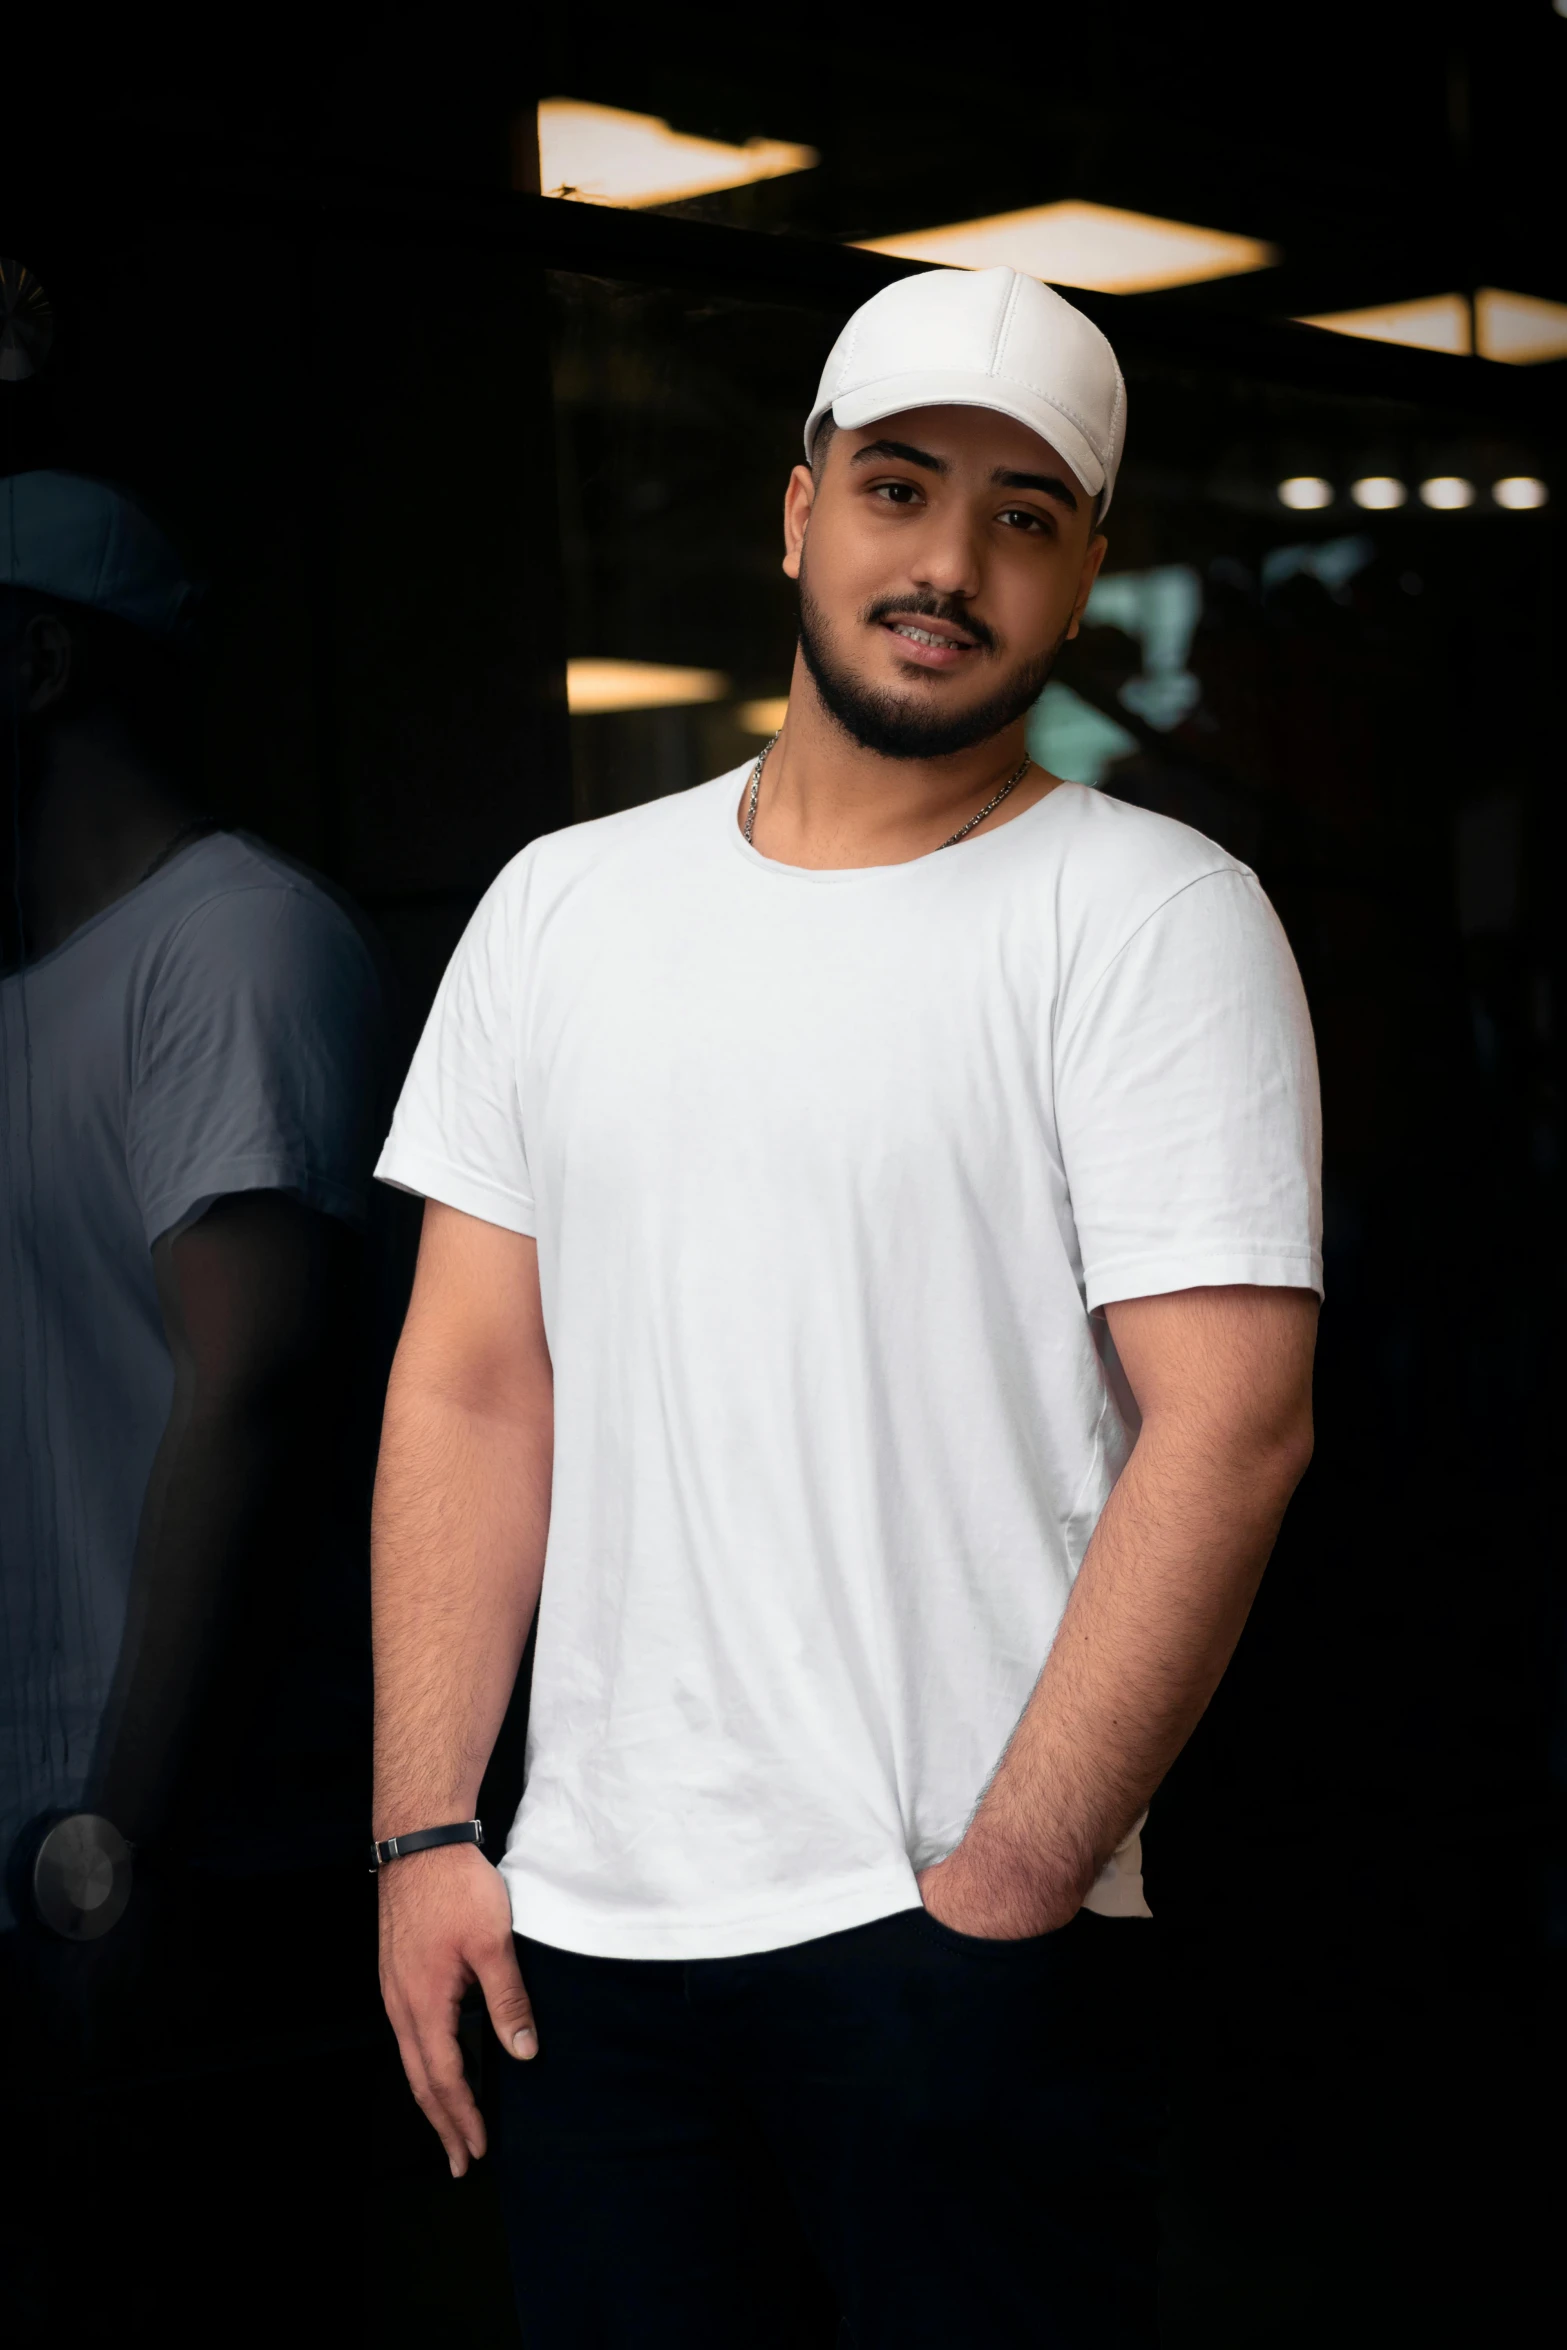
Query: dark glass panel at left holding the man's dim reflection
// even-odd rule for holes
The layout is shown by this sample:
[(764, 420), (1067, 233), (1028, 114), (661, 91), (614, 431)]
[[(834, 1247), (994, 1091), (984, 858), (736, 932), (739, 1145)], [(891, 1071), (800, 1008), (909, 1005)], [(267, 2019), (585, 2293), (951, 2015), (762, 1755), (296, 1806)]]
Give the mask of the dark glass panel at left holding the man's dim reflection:
[(543, 282), (200, 195), (33, 209), (54, 334), (31, 301), (0, 367), (7, 2315), (75, 2322), (87, 2230), (110, 2334), (197, 2338), (244, 2214), (256, 2324), (308, 2275), (343, 2338), (369, 2308), (505, 2341), (498, 2247), (421, 2324), (298, 2181), (324, 2138), (374, 2157), (376, 2258), (451, 2183), (366, 1875), (418, 1229), (371, 1166), (479, 891), (569, 815)]

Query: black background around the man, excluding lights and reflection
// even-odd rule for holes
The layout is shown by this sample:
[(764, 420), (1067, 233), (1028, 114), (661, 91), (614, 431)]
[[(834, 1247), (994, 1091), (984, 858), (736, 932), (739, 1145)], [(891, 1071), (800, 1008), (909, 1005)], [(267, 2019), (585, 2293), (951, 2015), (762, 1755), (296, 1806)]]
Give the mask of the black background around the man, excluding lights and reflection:
[[(663, 214), (550, 202), (529, 125), (557, 92), (822, 164)], [(359, 902), (404, 1041), (526, 839), (754, 750), (731, 705), (569, 719), (564, 663), (785, 689), (782, 479), (832, 334), (902, 268), (843, 240), (1074, 195), (1283, 249), (1081, 296), (1130, 385), (1107, 569), (1201, 573), (1203, 693), (1158, 733), (1116, 698), (1114, 632), (1064, 670), (1137, 740), (1104, 787), (1257, 865), (1323, 1055), (1318, 1457), (1146, 1838), (1168, 2338), (1203, 2350), (1511, 2341), (1558, 2265), (1565, 369), (1287, 320), (1567, 298), (1565, 96), (1567, 21), (1518, 0), (712, 31), (251, 14), (56, 42), (7, 101), (0, 251), (56, 334), (0, 385), (0, 468), (125, 479), (197, 552), (209, 804)], [(1534, 472), (1555, 503), (1273, 494), (1363, 470)], [(1367, 552), (1339, 588), (1264, 576), (1346, 536)], [(409, 1238), (402, 1217), (390, 1316)], [(256, 2228), (301, 2317), (348, 2338), (515, 2341), (484, 2174), (446, 2178), (376, 2019), (369, 1880), (310, 1932), (359, 1936), (362, 2000), (148, 2082), (172, 2174), (132, 2186), (106, 2148), (70, 2225), (129, 2242), (153, 2298), (167, 2277), (167, 2341)], [(223, 1962), (193, 1939), (193, 1969)], [(38, 2143), (96, 2127), (73, 2092)]]

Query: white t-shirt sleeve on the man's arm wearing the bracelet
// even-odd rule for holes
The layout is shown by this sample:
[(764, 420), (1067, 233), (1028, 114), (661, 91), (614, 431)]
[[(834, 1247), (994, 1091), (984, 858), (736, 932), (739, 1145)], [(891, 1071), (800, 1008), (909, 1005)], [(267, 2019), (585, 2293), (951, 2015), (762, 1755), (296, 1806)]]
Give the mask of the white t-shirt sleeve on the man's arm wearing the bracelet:
[[(526, 855), (526, 851), (524, 851)], [(437, 989), (376, 1175), (484, 1224), (536, 1234), (517, 1090), (517, 867), (468, 924)]]

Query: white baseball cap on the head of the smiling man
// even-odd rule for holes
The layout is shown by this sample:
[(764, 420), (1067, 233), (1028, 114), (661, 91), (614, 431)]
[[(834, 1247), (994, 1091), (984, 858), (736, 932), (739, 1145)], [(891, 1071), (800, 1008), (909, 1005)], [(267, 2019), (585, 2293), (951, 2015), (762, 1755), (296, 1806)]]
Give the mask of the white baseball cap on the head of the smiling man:
[(832, 345), (806, 423), (996, 409), (1057, 449), (1099, 515), (1125, 442), (1125, 383), (1090, 317), (1022, 270), (921, 270), (872, 294)]

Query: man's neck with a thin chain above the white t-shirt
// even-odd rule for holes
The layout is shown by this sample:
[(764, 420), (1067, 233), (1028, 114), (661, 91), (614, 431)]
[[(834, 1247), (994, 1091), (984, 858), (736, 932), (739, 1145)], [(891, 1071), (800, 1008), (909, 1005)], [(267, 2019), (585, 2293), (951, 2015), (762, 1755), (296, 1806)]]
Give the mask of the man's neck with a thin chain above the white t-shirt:
[[(778, 865), (818, 872), (907, 865), (949, 841), (1017, 773), (1027, 717), (944, 759), (886, 759), (865, 750), (825, 707), (801, 653), (794, 656), (789, 724), (768, 752), (752, 846)], [(1022, 815), (1057, 778), (1031, 766), (982, 832)], [(740, 801), (745, 818), (745, 799)]]

